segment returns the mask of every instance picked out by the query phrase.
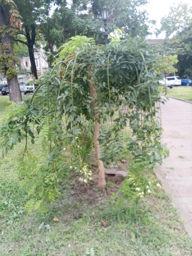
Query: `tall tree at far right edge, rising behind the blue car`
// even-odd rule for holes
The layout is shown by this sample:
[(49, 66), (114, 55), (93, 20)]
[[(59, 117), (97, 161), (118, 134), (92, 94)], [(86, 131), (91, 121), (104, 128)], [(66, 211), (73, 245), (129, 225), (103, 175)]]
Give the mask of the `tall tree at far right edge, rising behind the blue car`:
[[(164, 43), (166, 55), (177, 54), (180, 77), (192, 76), (192, 6), (185, 3), (173, 5), (167, 16), (161, 20), (161, 31), (165, 31), (167, 40)], [(172, 38), (168, 38), (172, 36)]]

